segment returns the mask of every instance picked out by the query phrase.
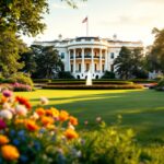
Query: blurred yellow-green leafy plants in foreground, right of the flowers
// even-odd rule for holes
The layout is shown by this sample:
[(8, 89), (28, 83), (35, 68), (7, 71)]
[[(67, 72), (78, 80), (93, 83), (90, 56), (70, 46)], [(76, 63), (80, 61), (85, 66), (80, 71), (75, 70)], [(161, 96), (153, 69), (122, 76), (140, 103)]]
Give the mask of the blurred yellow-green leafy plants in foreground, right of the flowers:
[(140, 150), (133, 141), (131, 129), (121, 131), (118, 127), (102, 128), (83, 132), (81, 163), (86, 164), (137, 164), (140, 163)]

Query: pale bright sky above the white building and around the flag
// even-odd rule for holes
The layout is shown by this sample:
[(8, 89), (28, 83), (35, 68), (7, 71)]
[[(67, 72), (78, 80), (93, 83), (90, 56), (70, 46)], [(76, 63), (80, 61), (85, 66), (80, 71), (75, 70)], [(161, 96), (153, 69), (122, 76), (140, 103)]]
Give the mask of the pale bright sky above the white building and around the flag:
[(47, 27), (35, 38), (23, 37), (26, 44), (34, 40), (54, 40), (59, 34), (62, 38), (89, 36), (120, 40), (142, 40), (145, 46), (153, 44), (153, 27), (164, 27), (164, 0), (75, 0), (78, 9), (70, 8), (60, 0), (49, 0), (50, 13), (44, 15)]

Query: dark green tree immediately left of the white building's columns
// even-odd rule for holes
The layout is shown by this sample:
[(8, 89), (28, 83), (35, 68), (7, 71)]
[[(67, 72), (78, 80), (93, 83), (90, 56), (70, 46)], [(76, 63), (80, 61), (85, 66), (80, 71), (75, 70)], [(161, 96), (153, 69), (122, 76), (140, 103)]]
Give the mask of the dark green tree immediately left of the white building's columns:
[(25, 63), (23, 71), (31, 73), (33, 78), (52, 79), (63, 66), (54, 46), (32, 46), (21, 60)]

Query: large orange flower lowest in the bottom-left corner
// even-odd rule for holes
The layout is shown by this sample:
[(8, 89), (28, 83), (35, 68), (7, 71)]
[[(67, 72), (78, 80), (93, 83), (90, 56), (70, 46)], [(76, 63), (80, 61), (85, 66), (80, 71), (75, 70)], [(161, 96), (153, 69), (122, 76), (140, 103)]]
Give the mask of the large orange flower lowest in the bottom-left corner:
[(1, 148), (1, 153), (2, 153), (2, 156), (9, 161), (14, 161), (20, 157), (20, 153), (19, 153), (17, 149), (10, 144), (3, 145)]

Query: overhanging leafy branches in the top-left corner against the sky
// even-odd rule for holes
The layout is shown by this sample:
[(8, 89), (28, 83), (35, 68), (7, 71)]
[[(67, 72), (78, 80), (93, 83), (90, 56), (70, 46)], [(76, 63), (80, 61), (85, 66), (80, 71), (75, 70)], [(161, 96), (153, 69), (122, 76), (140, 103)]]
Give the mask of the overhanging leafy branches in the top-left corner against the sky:
[(0, 1), (0, 31), (36, 36), (45, 28), (43, 15), (48, 13), (47, 0)]

